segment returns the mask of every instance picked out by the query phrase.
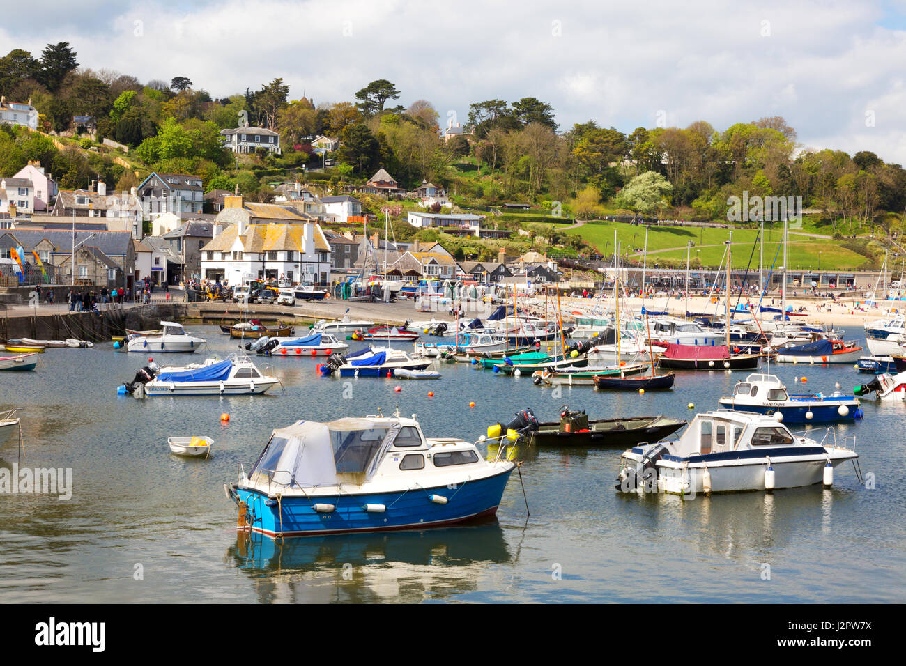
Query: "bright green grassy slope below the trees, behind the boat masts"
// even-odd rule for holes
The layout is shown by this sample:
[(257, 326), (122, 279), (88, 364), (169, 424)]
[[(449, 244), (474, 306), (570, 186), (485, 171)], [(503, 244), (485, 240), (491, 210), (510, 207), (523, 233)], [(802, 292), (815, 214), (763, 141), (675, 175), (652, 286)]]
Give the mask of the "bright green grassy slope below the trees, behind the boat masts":
[[(564, 226), (566, 225), (557, 225), (557, 227)], [(777, 256), (777, 265), (780, 265), (783, 261), (783, 227), (779, 225), (777, 227), (766, 227), (765, 229), (764, 256), (766, 266), (770, 266), (774, 262), (778, 247), (780, 247), (780, 254)], [(622, 256), (625, 256), (627, 252), (630, 255), (636, 254), (636, 250), (641, 252), (644, 248), (645, 227), (641, 226), (607, 222), (567, 228), (564, 229), (564, 233), (578, 235), (595, 246), (602, 255), (611, 255), (613, 252), (614, 229), (620, 242), (620, 254)], [(694, 244), (690, 253), (693, 264), (698, 258), (702, 265), (719, 265), (721, 258), (724, 256), (724, 244), (729, 237), (730, 231), (733, 232), (733, 264), (745, 265), (752, 254), (752, 247), (758, 235), (757, 229), (651, 227), (648, 232), (648, 262), (649, 264), (656, 264), (660, 260), (660, 262), (685, 265), (686, 246), (691, 242)], [(757, 265), (759, 251), (760, 243), (756, 247), (755, 256), (752, 260), (753, 265)], [(833, 266), (834, 268), (851, 270), (867, 261), (866, 256), (843, 247), (839, 241), (833, 241), (830, 238), (799, 236), (795, 233), (789, 235), (788, 255), (791, 269), (817, 269), (819, 253), (821, 266), (827, 268)], [(637, 258), (641, 259), (641, 256)]]

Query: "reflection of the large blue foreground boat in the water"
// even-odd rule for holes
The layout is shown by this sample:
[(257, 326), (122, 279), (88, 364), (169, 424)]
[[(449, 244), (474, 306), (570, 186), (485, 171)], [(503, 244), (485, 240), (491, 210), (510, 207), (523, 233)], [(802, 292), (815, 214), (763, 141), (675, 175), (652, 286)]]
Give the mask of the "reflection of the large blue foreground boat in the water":
[(238, 533), (225, 559), (254, 580), (262, 603), (411, 603), (475, 591), (488, 564), (512, 557), (491, 517), (420, 532), (282, 540)]

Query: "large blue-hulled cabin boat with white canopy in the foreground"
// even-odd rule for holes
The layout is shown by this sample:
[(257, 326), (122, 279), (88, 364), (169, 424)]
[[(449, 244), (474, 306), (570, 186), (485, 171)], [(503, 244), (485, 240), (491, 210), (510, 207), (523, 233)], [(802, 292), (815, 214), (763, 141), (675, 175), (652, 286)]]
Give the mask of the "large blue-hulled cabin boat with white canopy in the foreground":
[[(413, 415), (414, 416), (414, 415)], [(426, 438), (419, 423), (367, 416), (274, 430), (236, 483), (236, 528), (272, 538), (421, 529), (496, 513), (516, 464), (475, 444)]]

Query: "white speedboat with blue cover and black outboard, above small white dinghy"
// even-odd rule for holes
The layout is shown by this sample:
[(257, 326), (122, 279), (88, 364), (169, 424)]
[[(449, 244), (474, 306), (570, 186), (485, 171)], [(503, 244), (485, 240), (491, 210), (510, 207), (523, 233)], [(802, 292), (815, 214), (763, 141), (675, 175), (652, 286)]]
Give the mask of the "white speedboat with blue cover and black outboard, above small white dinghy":
[(160, 368), (144, 385), (145, 395), (257, 395), (280, 383), (247, 356), (230, 354), (203, 363)]

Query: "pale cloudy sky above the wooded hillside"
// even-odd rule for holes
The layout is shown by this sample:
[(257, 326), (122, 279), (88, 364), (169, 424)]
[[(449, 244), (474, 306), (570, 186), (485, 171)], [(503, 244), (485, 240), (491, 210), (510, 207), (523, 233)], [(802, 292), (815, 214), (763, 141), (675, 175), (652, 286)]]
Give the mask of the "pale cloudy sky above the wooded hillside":
[[(275, 77), (315, 104), (389, 79), (439, 122), (536, 97), (561, 130), (596, 121), (717, 130), (783, 116), (803, 148), (906, 165), (906, 0), (31, 0), (0, 53), (69, 42), (78, 62), (142, 82), (187, 76), (226, 97)], [(78, 7), (77, 9), (75, 7)], [(53, 17), (53, 20), (50, 20)]]

